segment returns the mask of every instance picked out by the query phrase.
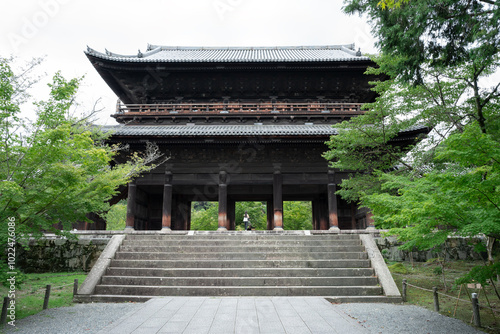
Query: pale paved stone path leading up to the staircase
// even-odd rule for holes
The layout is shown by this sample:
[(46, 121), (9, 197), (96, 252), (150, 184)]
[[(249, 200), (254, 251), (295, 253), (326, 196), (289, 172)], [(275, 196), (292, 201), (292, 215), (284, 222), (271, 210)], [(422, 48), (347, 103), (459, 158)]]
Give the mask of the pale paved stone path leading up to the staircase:
[(154, 298), (99, 334), (357, 334), (355, 320), (321, 297)]

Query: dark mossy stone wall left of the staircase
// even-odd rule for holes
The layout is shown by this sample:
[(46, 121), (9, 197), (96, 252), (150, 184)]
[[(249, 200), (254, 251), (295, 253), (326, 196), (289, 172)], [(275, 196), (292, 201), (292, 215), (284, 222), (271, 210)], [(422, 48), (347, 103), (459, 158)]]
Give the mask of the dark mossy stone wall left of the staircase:
[(90, 271), (111, 236), (77, 236), (76, 240), (46, 235), (21, 241), (17, 265), (26, 273)]

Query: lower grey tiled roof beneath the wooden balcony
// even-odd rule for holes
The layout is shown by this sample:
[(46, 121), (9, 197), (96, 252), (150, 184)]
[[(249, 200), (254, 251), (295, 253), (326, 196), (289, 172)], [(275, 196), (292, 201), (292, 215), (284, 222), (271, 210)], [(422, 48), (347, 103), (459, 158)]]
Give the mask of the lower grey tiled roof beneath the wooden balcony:
[(324, 136), (337, 131), (331, 125), (116, 125), (103, 130), (117, 136), (233, 137), (233, 136)]

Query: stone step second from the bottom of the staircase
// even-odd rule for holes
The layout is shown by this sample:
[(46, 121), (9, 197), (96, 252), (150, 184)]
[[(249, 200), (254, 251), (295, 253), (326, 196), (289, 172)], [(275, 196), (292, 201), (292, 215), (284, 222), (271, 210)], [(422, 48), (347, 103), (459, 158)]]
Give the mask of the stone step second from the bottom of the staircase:
[(149, 286), (376, 286), (376, 277), (151, 277), (103, 276), (102, 285)]

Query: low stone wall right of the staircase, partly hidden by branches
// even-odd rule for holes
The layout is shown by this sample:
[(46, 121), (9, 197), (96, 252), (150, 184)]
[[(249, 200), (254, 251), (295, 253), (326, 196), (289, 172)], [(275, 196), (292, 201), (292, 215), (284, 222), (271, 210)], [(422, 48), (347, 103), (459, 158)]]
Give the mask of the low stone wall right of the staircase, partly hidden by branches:
[[(402, 245), (395, 237), (376, 237), (377, 243), (382, 256), (388, 261), (413, 261), (426, 262), (430, 259), (442, 257), (443, 252), (439, 249), (432, 249), (428, 251), (413, 252), (402, 251), (399, 246)], [(487, 258), (486, 252), (478, 253), (474, 247), (478, 243), (486, 244), (486, 240), (482, 238), (449, 238), (446, 245), (446, 260), (482, 260)]]

